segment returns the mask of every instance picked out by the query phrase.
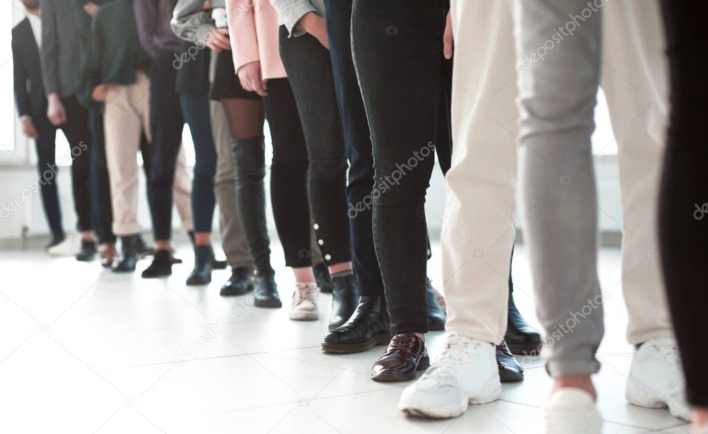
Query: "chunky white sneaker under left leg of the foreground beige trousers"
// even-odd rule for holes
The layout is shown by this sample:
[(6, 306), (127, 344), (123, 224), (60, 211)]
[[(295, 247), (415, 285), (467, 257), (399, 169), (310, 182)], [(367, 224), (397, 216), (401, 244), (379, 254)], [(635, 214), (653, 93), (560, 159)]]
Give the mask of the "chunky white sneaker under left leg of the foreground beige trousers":
[(450, 333), (435, 363), (404, 389), (399, 410), (412, 416), (454, 418), (469, 404), (485, 404), (500, 394), (494, 346)]

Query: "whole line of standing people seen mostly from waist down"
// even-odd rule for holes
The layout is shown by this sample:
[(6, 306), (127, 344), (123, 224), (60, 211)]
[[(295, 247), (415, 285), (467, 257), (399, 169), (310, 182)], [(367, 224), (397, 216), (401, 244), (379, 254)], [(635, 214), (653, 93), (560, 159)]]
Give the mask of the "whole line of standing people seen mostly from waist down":
[[(455, 417), (498, 399), (501, 382), (523, 379), (513, 353), (543, 343), (554, 377), (547, 431), (600, 432), (590, 136), (601, 84), (619, 149), (622, 288), (636, 348), (627, 400), (682, 418), (692, 405), (706, 429), (704, 350), (690, 337), (693, 306), (705, 300), (695, 280), (706, 232), (691, 217), (704, 202), (695, 164), (706, 86), (687, 6), (661, 2), (664, 38), (659, 2), (632, 0), (23, 1), (28, 18), (13, 29), (18, 110), (40, 176), (55, 165), (57, 128), (72, 147), (77, 259), (96, 255), (95, 232), (103, 265), (129, 272), (152, 255), (143, 277), (171, 274), (176, 205), (195, 251), (188, 285), (229, 265), (222, 295), (253, 291), (257, 307), (281, 307), (265, 219), (267, 120), (271, 206), (296, 282), (290, 319), (317, 319), (319, 292), (331, 292), (323, 350), (387, 345), (376, 381), (426, 370), (401, 394), (399, 408), (415, 416)], [(513, 301), (518, 144), (518, 214), (543, 340)], [(138, 152), (154, 247), (137, 222)], [(435, 156), (447, 181), (447, 316), (426, 267)], [(54, 249), (64, 239), (55, 182), (42, 183), (42, 200)], [(210, 240), (217, 202), (225, 262)], [(431, 365), (425, 334), (441, 329), (447, 344)]]

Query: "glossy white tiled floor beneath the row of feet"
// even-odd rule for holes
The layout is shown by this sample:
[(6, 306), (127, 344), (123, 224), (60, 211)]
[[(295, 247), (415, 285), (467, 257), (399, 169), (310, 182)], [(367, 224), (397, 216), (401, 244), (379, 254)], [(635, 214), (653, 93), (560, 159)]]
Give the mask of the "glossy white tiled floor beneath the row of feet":
[[(192, 256), (188, 246), (178, 253), (185, 265), (175, 266), (171, 278), (142, 280), (40, 251), (0, 252), (0, 433), (541, 430), (540, 406), (550, 387), (542, 360), (523, 360), (525, 381), (505, 385), (493, 404), (452, 420), (408, 418), (396, 410), (406, 384), (369, 379), (382, 347), (355, 355), (321, 352), (329, 295), (321, 296), (319, 321), (289, 321), (287, 309), (219, 297), (225, 271), (215, 272), (209, 287), (185, 287)], [(439, 257), (430, 263), (435, 282)], [(278, 246), (273, 258), (282, 258)], [(514, 266), (518, 305), (535, 323), (523, 247)], [(624, 401), (632, 348), (624, 339), (619, 251), (602, 251), (600, 281), (610, 292), (603, 369), (595, 379), (605, 433), (688, 433), (667, 411)], [(289, 271), (279, 273), (278, 284), (287, 300)], [(443, 341), (443, 333), (428, 336), (433, 357)]]

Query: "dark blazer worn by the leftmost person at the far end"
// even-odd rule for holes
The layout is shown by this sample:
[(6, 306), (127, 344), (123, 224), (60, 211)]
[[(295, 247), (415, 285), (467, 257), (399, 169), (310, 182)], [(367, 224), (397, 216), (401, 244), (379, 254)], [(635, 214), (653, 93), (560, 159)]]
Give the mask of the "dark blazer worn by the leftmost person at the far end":
[(15, 101), (20, 116), (36, 117), (47, 110), (40, 50), (25, 18), (12, 29), (12, 61), (15, 75)]

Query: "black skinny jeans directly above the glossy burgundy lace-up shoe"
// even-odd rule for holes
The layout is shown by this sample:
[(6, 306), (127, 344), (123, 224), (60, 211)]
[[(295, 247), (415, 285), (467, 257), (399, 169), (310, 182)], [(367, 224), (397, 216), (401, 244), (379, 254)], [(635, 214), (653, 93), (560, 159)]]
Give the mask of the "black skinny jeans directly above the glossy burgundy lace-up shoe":
[(353, 57), (374, 151), (374, 244), (394, 333), (428, 331), (424, 206), (440, 111), (448, 110), (446, 6), (442, 0), (353, 3)]

